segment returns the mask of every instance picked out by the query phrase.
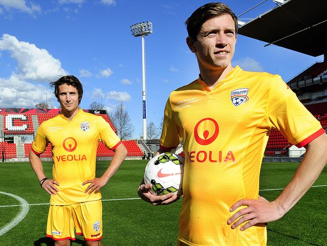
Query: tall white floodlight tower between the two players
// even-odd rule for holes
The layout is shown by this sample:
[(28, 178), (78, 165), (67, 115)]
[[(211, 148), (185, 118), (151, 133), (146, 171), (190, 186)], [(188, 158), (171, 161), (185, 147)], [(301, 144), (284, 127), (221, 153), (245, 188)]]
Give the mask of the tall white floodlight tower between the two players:
[(152, 23), (142, 22), (130, 26), (134, 37), (142, 37), (142, 99), (143, 99), (143, 139), (146, 139), (146, 94), (145, 94), (145, 41), (144, 37), (152, 33)]

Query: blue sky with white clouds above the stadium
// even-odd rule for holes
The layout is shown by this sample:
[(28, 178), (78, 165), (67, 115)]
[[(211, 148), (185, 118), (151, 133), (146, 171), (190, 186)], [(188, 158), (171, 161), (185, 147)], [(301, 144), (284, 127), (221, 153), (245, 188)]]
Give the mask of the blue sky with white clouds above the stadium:
[[(261, 1), (225, 1), (236, 15)], [(81, 107), (123, 102), (142, 135), (141, 38), (129, 26), (153, 24), (145, 38), (147, 122), (160, 125), (172, 90), (198, 77), (184, 21), (207, 1), (0, 0), (0, 107), (58, 106), (48, 81), (75, 75), (84, 85)], [(252, 19), (276, 5), (268, 0), (241, 16)], [(322, 56), (312, 57), (239, 35), (232, 65), (279, 74), (285, 81)], [(18, 100), (17, 99), (18, 96)]]

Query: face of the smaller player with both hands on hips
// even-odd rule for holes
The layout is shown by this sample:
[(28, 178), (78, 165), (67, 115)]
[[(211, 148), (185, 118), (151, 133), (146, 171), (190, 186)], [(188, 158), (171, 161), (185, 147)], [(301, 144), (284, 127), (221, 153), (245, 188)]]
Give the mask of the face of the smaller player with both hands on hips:
[(63, 84), (58, 87), (58, 92), (61, 110), (73, 112), (78, 108), (78, 91), (75, 87)]

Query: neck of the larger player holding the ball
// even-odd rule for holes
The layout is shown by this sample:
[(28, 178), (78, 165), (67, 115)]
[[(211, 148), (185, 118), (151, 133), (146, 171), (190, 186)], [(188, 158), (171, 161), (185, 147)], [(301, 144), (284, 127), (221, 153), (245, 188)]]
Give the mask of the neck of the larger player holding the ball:
[(231, 64), (225, 68), (205, 68), (200, 67), (201, 79), (208, 85), (210, 89), (213, 89), (221, 80), (225, 79), (227, 74), (233, 69)]

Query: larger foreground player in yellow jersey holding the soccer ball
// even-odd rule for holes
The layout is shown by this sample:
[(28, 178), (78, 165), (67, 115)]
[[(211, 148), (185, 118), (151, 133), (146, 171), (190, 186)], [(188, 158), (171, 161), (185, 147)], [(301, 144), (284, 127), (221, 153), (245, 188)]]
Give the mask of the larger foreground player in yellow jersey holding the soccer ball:
[[(232, 68), (237, 18), (210, 3), (186, 21), (200, 75), (167, 101), (160, 148), (183, 139), (186, 154), (178, 245), (267, 244), (265, 224), (281, 218), (310, 188), (327, 162), (327, 137), (280, 76)], [(259, 175), (271, 129), (306, 154), (275, 201), (259, 196)], [(153, 204), (179, 199), (154, 196), (141, 183), (139, 196)]]

